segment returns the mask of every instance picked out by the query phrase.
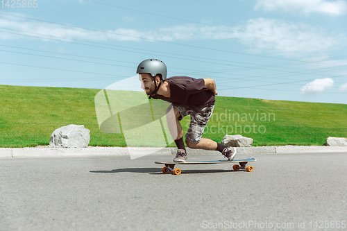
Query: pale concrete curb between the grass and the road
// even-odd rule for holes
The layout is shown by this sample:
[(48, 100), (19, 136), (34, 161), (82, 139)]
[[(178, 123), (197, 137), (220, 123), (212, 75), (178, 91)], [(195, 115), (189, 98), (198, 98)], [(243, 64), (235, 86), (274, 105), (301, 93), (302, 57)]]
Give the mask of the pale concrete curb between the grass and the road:
[[(142, 153), (150, 155), (173, 155), (177, 148), (128, 148), (121, 147), (87, 147), (87, 148), (51, 148), (39, 146), (35, 148), (0, 148), (0, 157), (78, 157), (78, 156), (109, 156), (109, 155), (136, 155)], [(187, 148), (188, 155), (218, 155), (218, 151), (205, 151)], [(304, 154), (304, 153), (347, 153), (347, 146), (261, 146), (237, 148), (237, 155), (252, 154)]]

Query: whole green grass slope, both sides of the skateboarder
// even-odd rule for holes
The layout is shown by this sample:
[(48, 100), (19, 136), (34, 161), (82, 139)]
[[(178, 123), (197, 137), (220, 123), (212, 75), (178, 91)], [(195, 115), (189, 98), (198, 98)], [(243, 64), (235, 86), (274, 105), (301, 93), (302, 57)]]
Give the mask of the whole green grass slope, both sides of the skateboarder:
[[(0, 85), (0, 147), (48, 145), (53, 130), (71, 123), (90, 130), (90, 146), (126, 146), (122, 133), (107, 134), (99, 129), (94, 105), (99, 91)], [(138, 92), (128, 94), (128, 98), (138, 99)], [(122, 103), (120, 99), (119, 105)], [(214, 114), (203, 137), (221, 142), (228, 127), (228, 135), (251, 137), (253, 146), (323, 145), (329, 136), (347, 137), (346, 121), (344, 104), (217, 96)], [(189, 117), (181, 124), (187, 131)], [(155, 134), (151, 136), (155, 142)]]

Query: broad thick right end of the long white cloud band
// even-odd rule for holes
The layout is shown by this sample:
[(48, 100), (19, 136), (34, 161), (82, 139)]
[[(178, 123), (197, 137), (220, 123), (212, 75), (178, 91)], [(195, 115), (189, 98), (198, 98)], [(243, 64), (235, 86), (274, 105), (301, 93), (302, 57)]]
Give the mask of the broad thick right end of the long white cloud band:
[[(242, 31), (242, 28), (244, 30)], [(329, 35), (308, 24), (294, 24), (277, 19), (250, 19), (239, 26), (239, 41), (255, 52), (270, 51), (287, 56), (324, 52), (344, 44), (343, 35)]]

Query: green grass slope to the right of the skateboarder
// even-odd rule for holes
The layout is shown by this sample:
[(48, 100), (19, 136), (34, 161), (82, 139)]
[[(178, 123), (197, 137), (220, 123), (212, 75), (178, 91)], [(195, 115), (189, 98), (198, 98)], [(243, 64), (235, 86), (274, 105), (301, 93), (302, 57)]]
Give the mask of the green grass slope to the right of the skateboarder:
[[(243, 133), (238, 129), (237, 134), (253, 138), (253, 146), (323, 145), (329, 136), (347, 136), (347, 105), (344, 104), (218, 97), (215, 115), (208, 126), (217, 126), (217, 115), (220, 119), (221, 113), (225, 114), (226, 110), (231, 116), (227, 122), (219, 120), (221, 126), (231, 124), (234, 130), (235, 123), (242, 126)], [(248, 114), (248, 117), (242, 113)], [(252, 128), (252, 132), (248, 132), (247, 126)], [(257, 128), (260, 126), (259, 132)], [(210, 135), (209, 138), (221, 140), (223, 134)]]

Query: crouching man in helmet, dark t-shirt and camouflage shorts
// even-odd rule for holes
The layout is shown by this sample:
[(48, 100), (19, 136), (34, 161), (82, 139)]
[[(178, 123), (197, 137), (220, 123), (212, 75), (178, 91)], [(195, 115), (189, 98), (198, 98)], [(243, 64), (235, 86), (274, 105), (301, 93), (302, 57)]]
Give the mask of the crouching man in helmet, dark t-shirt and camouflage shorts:
[[(212, 139), (201, 138), (216, 101), (217, 89), (212, 78), (167, 78), (167, 66), (156, 59), (140, 62), (137, 74), (149, 99), (162, 99), (171, 103), (166, 115), (169, 131), (178, 148), (174, 162), (187, 160), (185, 143), (189, 148), (219, 151), (228, 160), (234, 160), (236, 148), (223, 146)], [(179, 121), (188, 114), (191, 120), (184, 143), (183, 129)]]

